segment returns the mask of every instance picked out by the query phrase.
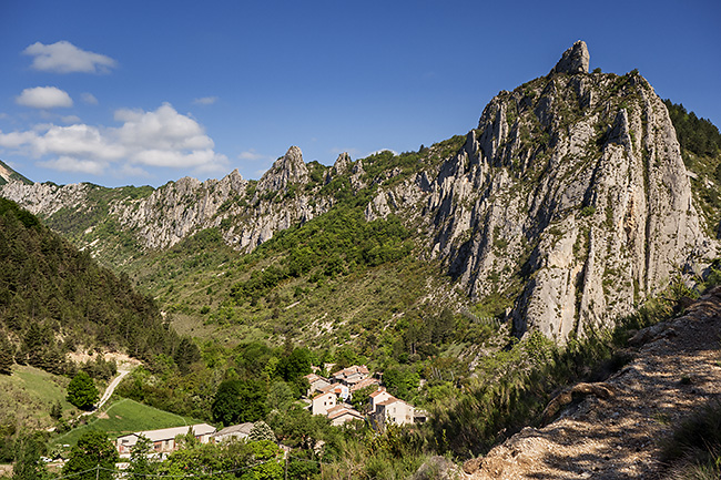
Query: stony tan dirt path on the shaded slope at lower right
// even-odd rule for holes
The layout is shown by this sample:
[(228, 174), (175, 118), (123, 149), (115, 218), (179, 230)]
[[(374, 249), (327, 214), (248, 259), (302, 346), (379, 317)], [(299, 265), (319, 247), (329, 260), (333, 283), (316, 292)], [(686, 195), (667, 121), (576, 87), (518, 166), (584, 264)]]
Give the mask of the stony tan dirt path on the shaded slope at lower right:
[(721, 287), (680, 318), (641, 330), (636, 359), (550, 425), (494, 448), (466, 478), (659, 479), (659, 440), (693, 409), (721, 399)]

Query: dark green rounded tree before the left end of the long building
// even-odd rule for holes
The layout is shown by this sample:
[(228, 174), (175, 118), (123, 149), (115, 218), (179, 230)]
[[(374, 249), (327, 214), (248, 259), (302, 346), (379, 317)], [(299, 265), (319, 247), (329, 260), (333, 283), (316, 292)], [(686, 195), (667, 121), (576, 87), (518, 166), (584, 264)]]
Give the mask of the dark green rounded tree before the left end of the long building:
[(62, 476), (75, 476), (73, 480), (112, 480), (118, 460), (118, 450), (105, 432), (88, 431), (70, 451)]

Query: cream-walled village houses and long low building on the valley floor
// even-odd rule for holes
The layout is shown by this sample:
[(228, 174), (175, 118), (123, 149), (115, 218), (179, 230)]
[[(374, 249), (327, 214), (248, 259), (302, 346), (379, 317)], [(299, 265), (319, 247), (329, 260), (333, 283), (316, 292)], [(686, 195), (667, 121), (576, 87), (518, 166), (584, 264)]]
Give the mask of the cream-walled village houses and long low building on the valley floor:
[[(309, 388), (303, 399), (313, 415), (331, 420), (333, 426), (348, 421), (367, 421), (375, 430), (384, 431), (388, 425), (412, 425), (426, 421), (426, 412), (390, 395), (380, 379), (370, 375), (365, 365), (341, 369), (328, 377), (315, 374), (305, 376)], [(366, 396), (363, 412), (348, 401), (358, 395)], [(356, 402), (357, 405), (358, 402)], [(258, 422), (260, 423), (260, 422)], [(247, 440), (256, 423), (245, 422), (217, 430), (209, 423), (158, 430), (136, 431), (118, 437), (115, 447), (121, 458), (129, 458), (141, 437), (153, 445), (154, 453), (161, 458), (179, 448), (176, 438), (192, 433), (200, 443), (220, 443), (230, 440)]]

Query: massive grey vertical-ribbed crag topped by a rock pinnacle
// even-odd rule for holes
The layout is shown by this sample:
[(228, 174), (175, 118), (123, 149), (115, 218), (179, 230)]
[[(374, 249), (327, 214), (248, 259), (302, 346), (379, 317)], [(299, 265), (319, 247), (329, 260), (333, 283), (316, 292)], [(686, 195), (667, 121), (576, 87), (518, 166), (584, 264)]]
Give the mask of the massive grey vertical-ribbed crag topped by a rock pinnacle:
[(578, 42), (547, 76), (499, 93), (428, 187), (418, 175), (368, 205), (413, 214), (426, 190), (416, 216), (431, 255), (476, 299), (517, 296), (518, 334), (561, 341), (714, 249), (666, 106), (637, 72), (589, 74), (588, 58)]

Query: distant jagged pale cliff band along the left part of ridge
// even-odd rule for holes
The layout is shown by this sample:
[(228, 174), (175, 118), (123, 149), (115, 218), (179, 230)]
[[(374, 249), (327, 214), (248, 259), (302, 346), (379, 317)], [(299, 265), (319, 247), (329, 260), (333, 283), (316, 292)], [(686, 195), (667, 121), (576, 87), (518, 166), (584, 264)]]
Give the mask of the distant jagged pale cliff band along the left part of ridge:
[[(50, 219), (57, 229), (95, 254), (101, 254), (104, 239), (97, 227), (109, 221), (132, 235), (142, 251), (169, 248), (200, 229), (217, 227), (230, 245), (251, 252), (275, 232), (307, 222), (329, 208), (331, 200), (316, 201), (313, 188), (303, 190), (307, 183), (308, 171), (301, 150), (292, 146), (258, 182), (248, 182), (234, 171), (220, 181), (184, 177), (140, 197), (124, 194), (122, 188), (91, 184), (21, 182), (2, 185), (0, 194)], [(288, 195), (291, 187), (301, 192)], [(90, 225), (52, 222), (68, 211), (74, 216), (101, 212)], [(80, 225), (87, 228), (78, 231)]]

